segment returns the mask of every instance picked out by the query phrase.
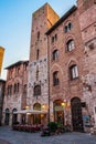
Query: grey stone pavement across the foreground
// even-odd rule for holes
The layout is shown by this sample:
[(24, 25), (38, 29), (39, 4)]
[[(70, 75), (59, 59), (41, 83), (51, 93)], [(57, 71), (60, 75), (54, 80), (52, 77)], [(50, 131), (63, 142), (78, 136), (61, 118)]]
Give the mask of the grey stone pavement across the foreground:
[[(85, 133), (64, 133), (54, 136), (40, 136), (40, 133), (12, 131), (8, 126), (0, 126), (0, 140), (11, 144), (96, 144), (96, 136)], [(0, 144), (9, 144), (0, 141)]]

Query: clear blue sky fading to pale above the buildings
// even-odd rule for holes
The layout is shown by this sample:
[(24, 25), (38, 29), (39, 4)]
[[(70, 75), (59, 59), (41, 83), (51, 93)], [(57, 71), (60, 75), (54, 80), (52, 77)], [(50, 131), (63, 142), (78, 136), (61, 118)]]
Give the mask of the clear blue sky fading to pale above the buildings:
[(32, 13), (45, 3), (62, 17), (76, 0), (0, 0), (0, 47), (4, 56), (0, 79), (7, 79), (8, 65), (29, 60)]

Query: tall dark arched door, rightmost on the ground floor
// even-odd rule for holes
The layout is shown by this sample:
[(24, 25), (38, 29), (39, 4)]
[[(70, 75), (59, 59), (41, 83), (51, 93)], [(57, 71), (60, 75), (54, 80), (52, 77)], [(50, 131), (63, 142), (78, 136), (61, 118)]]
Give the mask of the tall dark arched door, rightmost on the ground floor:
[(83, 116), (82, 116), (82, 103), (81, 99), (73, 97), (71, 100), (71, 109), (72, 109), (72, 124), (73, 131), (83, 132)]

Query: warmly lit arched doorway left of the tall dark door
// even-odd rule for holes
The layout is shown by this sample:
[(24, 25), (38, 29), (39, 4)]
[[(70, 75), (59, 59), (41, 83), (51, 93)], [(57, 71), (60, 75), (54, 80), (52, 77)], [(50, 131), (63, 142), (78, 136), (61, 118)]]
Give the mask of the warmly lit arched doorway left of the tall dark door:
[(54, 121), (64, 125), (64, 107), (62, 106), (62, 100), (56, 100), (53, 103)]

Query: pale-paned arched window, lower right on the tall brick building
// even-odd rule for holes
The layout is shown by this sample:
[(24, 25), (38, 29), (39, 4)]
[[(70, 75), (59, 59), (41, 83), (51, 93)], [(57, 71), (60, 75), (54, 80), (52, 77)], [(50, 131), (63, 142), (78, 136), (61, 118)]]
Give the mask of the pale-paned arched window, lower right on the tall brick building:
[(70, 66), (70, 76), (71, 80), (78, 78), (78, 69), (76, 64)]

